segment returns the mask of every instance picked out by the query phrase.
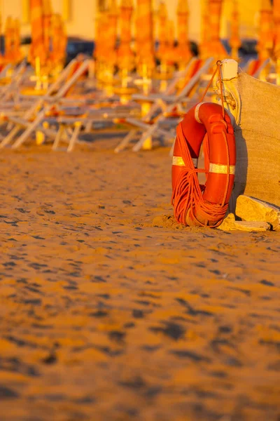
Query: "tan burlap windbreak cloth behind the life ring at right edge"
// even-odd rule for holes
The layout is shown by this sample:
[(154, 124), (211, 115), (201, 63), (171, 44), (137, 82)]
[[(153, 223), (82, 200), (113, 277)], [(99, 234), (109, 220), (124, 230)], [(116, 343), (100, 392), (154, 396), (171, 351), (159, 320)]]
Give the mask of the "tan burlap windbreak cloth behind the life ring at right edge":
[(239, 194), (280, 206), (280, 87), (244, 72), (230, 83), (241, 100), (235, 129), (237, 165), (231, 211)]

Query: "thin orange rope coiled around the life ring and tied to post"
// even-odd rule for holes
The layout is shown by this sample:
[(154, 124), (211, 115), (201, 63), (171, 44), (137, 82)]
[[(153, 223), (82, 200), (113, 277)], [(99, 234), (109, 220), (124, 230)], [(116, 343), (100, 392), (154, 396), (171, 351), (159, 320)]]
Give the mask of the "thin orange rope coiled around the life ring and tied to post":
[[(223, 106), (223, 82), (221, 77), (221, 62), (217, 62), (217, 69), (214, 72), (211, 81), (213, 81), (216, 72), (219, 70), (219, 79), (220, 79), (220, 86), (221, 86), (221, 99), (222, 99), (222, 106)], [(207, 86), (207, 90), (205, 91), (204, 96), (206, 95), (209, 86), (211, 85), (211, 81)], [(225, 109), (223, 107), (223, 118), (225, 116)], [(221, 122), (225, 125), (225, 131), (227, 130), (227, 123), (223, 119)], [(177, 141), (179, 142), (179, 147), (181, 148), (183, 162), (185, 163), (185, 167), (182, 169), (179, 178), (176, 182), (176, 186), (172, 193), (172, 205), (174, 206), (174, 215), (177, 222), (186, 225), (186, 216), (190, 220), (195, 222), (195, 225), (200, 227), (204, 227), (208, 225), (209, 227), (218, 227), (221, 224), (223, 218), (225, 218), (225, 213), (228, 210), (228, 203), (225, 203), (226, 197), (228, 195), (228, 187), (230, 183), (230, 154), (228, 148), (228, 140), (223, 131), (223, 138), (225, 140), (225, 147), (227, 151), (227, 182), (225, 188), (225, 194), (223, 196), (223, 202), (221, 204), (216, 203), (209, 203), (204, 201), (203, 199), (203, 192), (205, 186), (201, 186), (197, 177), (198, 173), (206, 173), (208, 174), (209, 171), (207, 169), (199, 169), (195, 168), (193, 159), (190, 156), (190, 151), (188, 149), (188, 144), (186, 142), (186, 138), (183, 135), (183, 129), (181, 123), (177, 128)], [(206, 136), (207, 137), (207, 136)], [(205, 141), (205, 138), (204, 138)], [(204, 152), (207, 152), (207, 147), (204, 147)], [(207, 156), (206, 161), (209, 162), (209, 156)], [(197, 214), (204, 215), (205, 223), (202, 223), (200, 220), (197, 219)], [(218, 221), (218, 222), (217, 222)]]

